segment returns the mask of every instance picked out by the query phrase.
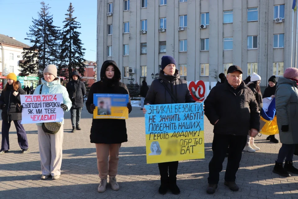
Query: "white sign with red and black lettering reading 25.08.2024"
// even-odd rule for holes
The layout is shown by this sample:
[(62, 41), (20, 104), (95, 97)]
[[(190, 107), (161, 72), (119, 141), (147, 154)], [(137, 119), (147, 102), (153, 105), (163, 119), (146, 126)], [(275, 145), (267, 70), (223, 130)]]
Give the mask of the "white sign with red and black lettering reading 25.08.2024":
[(20, 95), (22, 109), (22, 124), (62, 122), (62, 94)]

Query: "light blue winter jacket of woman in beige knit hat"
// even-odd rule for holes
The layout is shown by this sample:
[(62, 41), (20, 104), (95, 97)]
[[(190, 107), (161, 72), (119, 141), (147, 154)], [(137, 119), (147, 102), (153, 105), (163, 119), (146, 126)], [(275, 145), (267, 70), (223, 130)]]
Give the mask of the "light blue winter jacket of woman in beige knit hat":
[[(59, 78), (59, 77), (58, 77)], [(71, 100), (68, 96), (68, 92), (64, 86), (60, 84), (60, 78), (58, 80), (47, 82), (44, 80), (44, 78), (41, 78), (41, 85), (43, 85), (43, 90), (41, 91), (41, 94), (57, 94), (62, 93), (63, 96), (63, 104), (66, 104), (67, 110), (69, 111), (72, 104)], [(38, 85), (34, 90), (34, 95), (39, 95), (40, 87), (41, 85)], [(62, 124), (64, 124), (64, 119), (62, 121)], [(36, 123), (37, 126), (42, 126), (42, 123)]]

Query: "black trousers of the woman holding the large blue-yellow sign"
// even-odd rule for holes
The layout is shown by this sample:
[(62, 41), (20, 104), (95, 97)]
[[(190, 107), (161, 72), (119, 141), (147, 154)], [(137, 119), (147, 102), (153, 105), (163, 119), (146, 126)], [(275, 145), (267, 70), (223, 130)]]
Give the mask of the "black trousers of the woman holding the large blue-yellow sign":
[(161, 183), (176, 183), (178, 161), (158, 163)]

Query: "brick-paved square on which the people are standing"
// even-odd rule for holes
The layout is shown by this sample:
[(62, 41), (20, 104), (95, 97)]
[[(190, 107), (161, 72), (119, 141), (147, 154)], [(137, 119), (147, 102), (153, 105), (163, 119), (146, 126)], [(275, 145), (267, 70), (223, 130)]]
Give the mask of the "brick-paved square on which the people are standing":
[[(158, 193), (160, 176), (157, 164), (146, 164), (144, 115), (139, 107), (126, 121), (128, 142), (120, 148), (120, 161), (117, 181), (119, 191), (111, 190), (109, 184), (104, 193), (98, 193), (99, 177), (95, 144), (90, 143), (89, 135), (92, 115), (83, 108), (81, 131), (71, 133), (70, 112), (65, 113), (63, 160), (61, 177), (58, 180), (41, 180), (40, 157), (38, 149), (37, 127), (25, 124), (29, 150), (20, 153), (16, 129), (11, 125), (10, 152), (0, 155), (0, 198), (298, 198), (298, 175), (281, 178), (273, 174), (273, 166), (281, 144), (266, 141), (265, 135), (257, 137), (255, 143), (261, 148), (255, 153), (243, 152), (236, 183), (240, 190), (233, 192), (224, 186), (224, 170), (220, 173), (217, 192), (208, 195), (208, 164), (212, 157), (213, 126), (205, 118), (205, 159), (180, 161), (177, 184), (180, 195), (168, 192)], [(2, 125), (2, 121), (0, 123)], [(100, 130), (100, 129), (98, 129)], [(106, 132), (113, 133), (113, 132)], [(279, 139), (279, 136), (276, 136)], [(298, 157), (294, 156), (298, 167)]]

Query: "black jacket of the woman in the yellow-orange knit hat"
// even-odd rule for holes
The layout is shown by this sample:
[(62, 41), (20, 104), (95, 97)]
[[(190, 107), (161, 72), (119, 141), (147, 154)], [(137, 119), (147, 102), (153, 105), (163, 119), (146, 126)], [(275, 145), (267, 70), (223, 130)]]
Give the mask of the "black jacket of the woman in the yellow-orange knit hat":
[(0, 95), (0, 108), (2, 109), (1, 118), (4, 121), (21, 120), (22, 113), (16, 108), (16, 104), (21, 104), (20, 95), (26, 95), (26, 92), (21, 88), (19, 83), (19, 94), (17, 96), (13, 95), (13, 86), (7, 85), (7, 90), (2, 90)]

